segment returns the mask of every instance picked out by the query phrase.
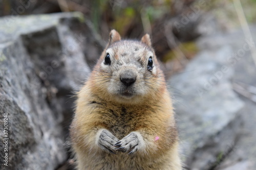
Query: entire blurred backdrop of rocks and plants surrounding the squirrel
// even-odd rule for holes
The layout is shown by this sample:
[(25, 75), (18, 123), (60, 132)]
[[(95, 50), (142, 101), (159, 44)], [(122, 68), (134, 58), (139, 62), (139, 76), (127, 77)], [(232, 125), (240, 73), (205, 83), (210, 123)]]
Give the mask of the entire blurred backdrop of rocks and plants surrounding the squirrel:
[(0, 112), (10, 128), (0, 169), (74, 169), (74, 94), (115, 29), (151, 35), (184, 169), (254, 170), (255, 9), (256, 0), (0, 0)]

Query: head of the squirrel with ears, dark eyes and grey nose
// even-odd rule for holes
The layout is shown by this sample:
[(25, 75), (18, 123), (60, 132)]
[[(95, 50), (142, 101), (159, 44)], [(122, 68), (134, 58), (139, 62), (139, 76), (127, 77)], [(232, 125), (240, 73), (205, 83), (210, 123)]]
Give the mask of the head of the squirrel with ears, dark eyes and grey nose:
[(115, 30), (89, 79), (98, 96), (123, 104), (152, 101), (166, 88), (150, 36), (121, 40)]

